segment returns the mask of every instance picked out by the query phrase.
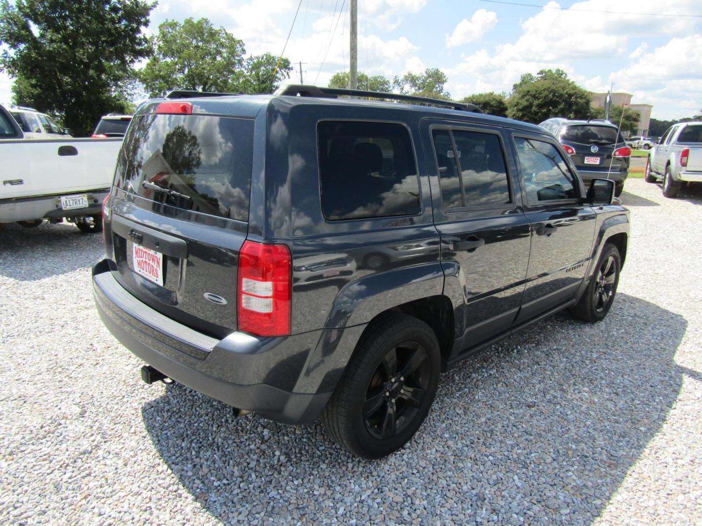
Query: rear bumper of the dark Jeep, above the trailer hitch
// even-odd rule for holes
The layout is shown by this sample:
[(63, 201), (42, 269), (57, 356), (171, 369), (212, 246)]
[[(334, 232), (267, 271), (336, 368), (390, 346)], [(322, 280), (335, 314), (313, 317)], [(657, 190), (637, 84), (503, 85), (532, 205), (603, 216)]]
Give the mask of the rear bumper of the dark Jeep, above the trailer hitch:
[(112, 335), (146, 363), (199, 393), (285, 424), (319, 418), (360, 335), (349, 328), (211, 338), (131, 295), (107, 259), (93, 267), (93, 296)]

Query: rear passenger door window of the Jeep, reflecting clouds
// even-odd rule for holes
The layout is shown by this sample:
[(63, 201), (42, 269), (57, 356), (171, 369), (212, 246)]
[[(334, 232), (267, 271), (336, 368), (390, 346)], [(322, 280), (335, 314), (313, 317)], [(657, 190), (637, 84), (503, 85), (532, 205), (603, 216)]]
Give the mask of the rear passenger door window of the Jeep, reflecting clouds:
[(434, 130), (432, 135), (443, 208), (511, 202), (498, 135), (466, 130)]

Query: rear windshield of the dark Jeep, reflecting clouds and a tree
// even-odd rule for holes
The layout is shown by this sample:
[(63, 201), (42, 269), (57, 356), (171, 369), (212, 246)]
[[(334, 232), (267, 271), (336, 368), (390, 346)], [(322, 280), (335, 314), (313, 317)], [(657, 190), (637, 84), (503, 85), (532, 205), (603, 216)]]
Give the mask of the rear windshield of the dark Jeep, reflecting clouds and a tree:
[(252, 120), (135, 116), (115, 184), (159, 203), (247, 221), (252, 156)]

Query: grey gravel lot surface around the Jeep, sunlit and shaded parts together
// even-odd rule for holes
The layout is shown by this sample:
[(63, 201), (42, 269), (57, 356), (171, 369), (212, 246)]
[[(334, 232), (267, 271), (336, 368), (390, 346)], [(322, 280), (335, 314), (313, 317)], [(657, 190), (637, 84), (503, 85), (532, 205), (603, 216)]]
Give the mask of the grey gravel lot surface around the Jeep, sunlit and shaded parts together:
[(442, 378), (404, 450), (146, 386), (102, 326), (101, 236), (0, 231), (0, 522), (702, 523), (702, 190), (630, 180), (602, 323), (555, 316)]

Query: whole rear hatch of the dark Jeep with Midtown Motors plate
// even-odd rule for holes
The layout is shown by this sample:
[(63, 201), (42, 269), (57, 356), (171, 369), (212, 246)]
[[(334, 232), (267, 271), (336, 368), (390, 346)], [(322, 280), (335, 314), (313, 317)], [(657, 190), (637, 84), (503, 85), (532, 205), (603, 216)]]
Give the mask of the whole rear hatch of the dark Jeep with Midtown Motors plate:
[(121, 191), (107, 229), (117, 279), (153, 309), (216, 337), (237, 329), (253, 126), (202, 114), (134, 116), (117, 163)]

